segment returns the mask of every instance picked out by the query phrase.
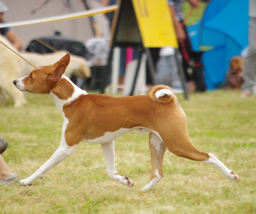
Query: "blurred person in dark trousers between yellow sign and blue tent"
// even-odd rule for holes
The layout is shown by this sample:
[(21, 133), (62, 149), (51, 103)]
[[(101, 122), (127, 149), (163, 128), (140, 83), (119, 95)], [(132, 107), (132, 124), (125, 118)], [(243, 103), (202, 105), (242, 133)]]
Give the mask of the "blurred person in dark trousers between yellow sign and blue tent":
[[(188, 32), (184, 24), (184, 17), (181, 11), (181, 6), (185, 0), (168, 0), (170, 12), (172, 15), (173, 25), (176, 32), (177, 40), (179, 43), (179, 49), (183, 58), (183, 69), (188, 83), (195, 82), (196, 92), (204, 92), (206, 85), (204, 82), (203, 64), (201, 61), (202, 52), (196, 52), (192, 50), (192, 46), (188, 37)], [(188, 0), (192, 7), (198, 7), (201, 0)], [(192, 75), (188, 70), (192, 69)], [(191, 85), (191, 84), (189, 84)], [(193, 91), (194, 89), (190, 89)]]

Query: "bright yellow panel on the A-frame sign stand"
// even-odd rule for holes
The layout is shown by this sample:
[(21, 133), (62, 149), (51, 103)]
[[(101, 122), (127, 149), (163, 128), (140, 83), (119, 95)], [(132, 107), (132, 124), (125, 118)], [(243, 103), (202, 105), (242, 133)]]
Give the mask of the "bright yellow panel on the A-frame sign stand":
[(132, 0), (144, 47), (178, 48), (167, 0)]

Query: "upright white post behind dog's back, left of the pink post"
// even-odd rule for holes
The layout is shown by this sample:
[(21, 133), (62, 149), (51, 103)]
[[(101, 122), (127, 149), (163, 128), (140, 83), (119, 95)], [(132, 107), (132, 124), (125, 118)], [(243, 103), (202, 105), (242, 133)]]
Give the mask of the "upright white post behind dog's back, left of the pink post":
[(113, 51), (112, 60), (112, 74), (111, 74), (111, 92), (118, 92), (119, 68), (120, 68), (121, 48), (115, 47)]

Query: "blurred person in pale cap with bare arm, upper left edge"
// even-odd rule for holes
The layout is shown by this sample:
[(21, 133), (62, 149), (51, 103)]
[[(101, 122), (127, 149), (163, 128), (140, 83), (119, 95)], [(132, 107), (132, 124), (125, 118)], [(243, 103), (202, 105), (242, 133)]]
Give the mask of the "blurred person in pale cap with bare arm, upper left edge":
[[(8, 11), (7, 6), (0, 1), (0, 23), (6, 23), (4, 20), (4, 12), (6, 11)], [(5, 36), (17, 50), (22, 49), (20, 38), (10, 27), (0, 28), (0, 33)]]

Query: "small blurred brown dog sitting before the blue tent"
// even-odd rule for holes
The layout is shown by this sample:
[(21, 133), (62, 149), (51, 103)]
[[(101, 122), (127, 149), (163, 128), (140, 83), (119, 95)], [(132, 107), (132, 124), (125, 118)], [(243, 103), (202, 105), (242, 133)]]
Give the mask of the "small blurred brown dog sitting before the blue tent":
[(233, 58), (231, 58), (229, 69), (226, 75), (227, 89), (241, 88), (244, 82), (243, 70), (244, 70), (244, 58), (241, 56), (234, 56)]

